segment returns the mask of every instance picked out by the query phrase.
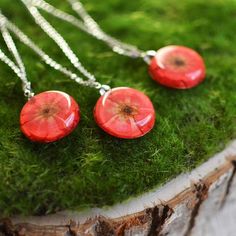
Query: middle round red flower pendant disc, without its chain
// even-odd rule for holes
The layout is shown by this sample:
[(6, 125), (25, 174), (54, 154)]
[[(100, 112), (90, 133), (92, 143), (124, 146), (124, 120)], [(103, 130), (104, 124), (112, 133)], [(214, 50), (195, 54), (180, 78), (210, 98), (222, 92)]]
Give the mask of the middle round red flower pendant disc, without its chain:
[(97, 124), (118, 138), (133, 139), (148, 133), (155, 123), (150, 99), (131, 88), (115, 88), (99, 98), (94, 108)]

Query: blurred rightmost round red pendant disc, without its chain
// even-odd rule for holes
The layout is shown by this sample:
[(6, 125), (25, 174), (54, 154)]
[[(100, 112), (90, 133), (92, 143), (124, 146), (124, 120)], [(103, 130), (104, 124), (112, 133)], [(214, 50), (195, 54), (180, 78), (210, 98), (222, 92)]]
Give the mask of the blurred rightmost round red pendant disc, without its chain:
[(177, 89), (200, 84), (206, 74), (202, 57), (183, 46), (167, 46), (157, 51), (149, 66), (151, 77), (158, 83)]

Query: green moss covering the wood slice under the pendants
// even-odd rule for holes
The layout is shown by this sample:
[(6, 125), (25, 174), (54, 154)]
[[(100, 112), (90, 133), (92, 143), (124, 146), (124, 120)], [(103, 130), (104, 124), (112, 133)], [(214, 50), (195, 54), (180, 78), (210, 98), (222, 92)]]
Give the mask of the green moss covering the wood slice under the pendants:
[[(50, 2), (70, 11), (65, 1)], [(84, 3), (107, 32), (144, 50), (168, 44), (195, 48), (206, 61), (207, 78), (188, 91), (166, 89), (149, 78), (141, 60), (116, 55), (102, 42), (47, 16), (99, 81), (113, 87), (130, 86), (149, 95), (157, 112), (156, 125), (137, 140), (107, 135), (93, 120), (99, 95), (45, 66), (18, 43), (35, 92), (56, 89), (71, 94), (81, 106), (82, 120), (72, 135), (57, 143), (28, 141), (18, 122), (25, 103), (21, 83), (0, 64), (0, 212), (4, 215), (45, 214), (125, 200), (191, 170), (235, 137), (234, 1)], [(70, 67), (20, 1), (9, 4), (9, 0), (0, 1), (4, 14)]]

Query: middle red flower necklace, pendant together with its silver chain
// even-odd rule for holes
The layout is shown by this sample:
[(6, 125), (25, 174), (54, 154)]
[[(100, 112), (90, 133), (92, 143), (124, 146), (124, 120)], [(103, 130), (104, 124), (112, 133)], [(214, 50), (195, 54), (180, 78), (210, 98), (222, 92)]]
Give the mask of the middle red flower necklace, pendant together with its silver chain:
[(94, 118), (98, 126), (110, 135), (126, 139), (138, 138), (148, 133), (155, 124), (155, 111), (150, 99), (142, 92), (132, 88), (110, 89), (108, 85), (101, 85), (96, 81), (94, 75), (82, 66), (64, 38), (37, 12), (37, 9), (33, 8), (31, 11), (34, 13), (36, 22), (58, 44), (72, 65), (88, 80), (83, 80), (54, 61), (9, 21), (7, 21), (8, 28), (46, 64), (62, 72), (78, 84), (100, 91), (101, 97), (94, 108)]

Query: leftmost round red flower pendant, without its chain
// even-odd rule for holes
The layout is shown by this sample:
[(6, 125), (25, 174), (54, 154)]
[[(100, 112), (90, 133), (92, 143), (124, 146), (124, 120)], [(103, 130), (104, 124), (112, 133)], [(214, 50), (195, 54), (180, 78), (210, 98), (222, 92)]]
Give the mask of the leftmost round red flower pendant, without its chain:
[(49, 143), (71, 133), (79, 120), (79, 106), (71, 96), (60, 91), (47, 91), (32, 97), (24, 105), (20, 127), (30, 140)]

